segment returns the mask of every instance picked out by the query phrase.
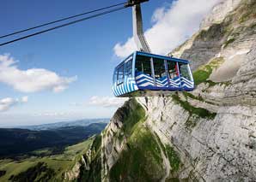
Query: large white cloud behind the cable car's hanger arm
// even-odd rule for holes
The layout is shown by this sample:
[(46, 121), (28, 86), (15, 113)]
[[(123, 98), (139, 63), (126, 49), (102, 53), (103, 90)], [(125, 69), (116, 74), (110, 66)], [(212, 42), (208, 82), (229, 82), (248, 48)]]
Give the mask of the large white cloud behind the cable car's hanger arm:
[[(165, 55), (198, 30), (200, 22), (210, 9), (221, 0), (177, 0), (155, 10), (153, 26), (145, 32), (149, 47), (155, 54)], [(129, 56), (136, 50), (133, 38), (113, 48), (116, 56)]]

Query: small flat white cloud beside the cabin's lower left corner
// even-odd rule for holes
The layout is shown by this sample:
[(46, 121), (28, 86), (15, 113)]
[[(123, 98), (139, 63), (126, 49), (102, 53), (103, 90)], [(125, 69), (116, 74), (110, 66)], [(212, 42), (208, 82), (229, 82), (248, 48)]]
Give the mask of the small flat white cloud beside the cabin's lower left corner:
[(127, 98), (118, 98), (118, 97), (98, 97), (94, 96), (89, 99), (89, 105), (94, 105), (94, 106), (101, 106), (105, 108), (110, 108), (110, 107), (119, 107), (125, 101), (128, 100)]

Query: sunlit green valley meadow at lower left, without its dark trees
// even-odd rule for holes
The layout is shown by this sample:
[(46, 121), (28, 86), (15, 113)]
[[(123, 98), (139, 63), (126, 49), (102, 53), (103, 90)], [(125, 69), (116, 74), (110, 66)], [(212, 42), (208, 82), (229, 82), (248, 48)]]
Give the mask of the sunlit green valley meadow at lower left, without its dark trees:
[[(0, 161), (0, 170), (6, 171), (6, 174), (0, 178), (0, 181), (8, 181), (12, 175), (17, 176), (20, 173), (27, 173), (29, 168), (37, 166), (39, 162), (44, 163), (50, 171), (53, 170), (56, 172), (56, 175), (51, 179), (52, 181), (61, 181), (64, 173), (75, 165), (82, 154), (88, 150), (93, 140), (93, 138), (88, 138), (88, 140), (80, 144), (69, 146), (64, 150), (64, 154), (62, 155), (30, 157), (21, 161), (2, 160)], [(44, 151), (46, 150), (38, 150), (37, 152)]]

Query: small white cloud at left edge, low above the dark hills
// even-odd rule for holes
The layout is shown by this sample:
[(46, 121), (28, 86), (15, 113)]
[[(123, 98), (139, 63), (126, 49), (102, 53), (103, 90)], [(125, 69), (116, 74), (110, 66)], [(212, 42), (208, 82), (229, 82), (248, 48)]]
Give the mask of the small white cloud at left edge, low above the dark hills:
[(14, 107), (18, 103), (27, 103), (28, 97), (21, 97), (21, 99), (18, 98), (11, 98), (6, 97), (0, 100), (0, 112), (7, 111), (10, 108)]

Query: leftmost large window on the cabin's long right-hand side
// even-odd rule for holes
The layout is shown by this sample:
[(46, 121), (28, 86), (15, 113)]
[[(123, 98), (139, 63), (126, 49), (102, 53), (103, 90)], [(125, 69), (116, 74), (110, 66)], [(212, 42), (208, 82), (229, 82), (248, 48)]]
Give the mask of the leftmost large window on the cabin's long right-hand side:
[(150, 57), (137, 56), (135, 71), (137, 74), (144, 73), (144, 74), (148, 74), (149, 76), (151, 76), (152, 73), (151, 73)]

